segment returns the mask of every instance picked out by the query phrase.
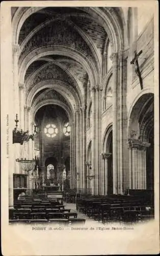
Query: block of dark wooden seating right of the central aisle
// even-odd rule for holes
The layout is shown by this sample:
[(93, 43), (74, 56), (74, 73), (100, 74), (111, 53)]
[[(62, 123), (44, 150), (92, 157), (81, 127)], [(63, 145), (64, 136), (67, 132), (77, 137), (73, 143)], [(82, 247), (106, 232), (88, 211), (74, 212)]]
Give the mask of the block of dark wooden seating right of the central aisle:
[(139, 222), (154, 218), (152, 202), (132, 196), (90, 196), (76, 201), (76, 209), (94, 220)]

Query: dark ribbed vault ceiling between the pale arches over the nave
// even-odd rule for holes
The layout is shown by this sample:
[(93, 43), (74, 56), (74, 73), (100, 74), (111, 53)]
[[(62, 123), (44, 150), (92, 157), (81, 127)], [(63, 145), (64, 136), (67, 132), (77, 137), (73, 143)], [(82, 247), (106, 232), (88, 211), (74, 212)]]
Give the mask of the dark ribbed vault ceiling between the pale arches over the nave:
[[(83, 7), (47, 7), (26, 18), (18, 38), (19, 69), (32, 51), (38, 53), (39, 49), (43, 49), (44, 52), (43, 57), (31, 61), (30, 66), (26, 65), (27, 68), (22, 70), (28, 90), (26, 95), (42, 81), (57, 80), (71, 86), (73, 94), (78, 95), (80, 104), (85, 104), (85, 90), (87, 84), (91, 83), (90, 77), (95, 75), (93, 71), (99, 77), (102, 73), (102, 55), (108, 37), (99, 20), (87, 11)], [(12, 13), (14, 12), (15, 9)], [(52, 54), (45, 55), (48, 47)], [(64, 51), (68, 54), (64, 54)], [(82, 59), (89, 68), (86, 68)], [(35, 94), (33, 102), (39, 100), (39, 94)], [(71, 102), (68, 101), (68, 105), (69, 103)]]

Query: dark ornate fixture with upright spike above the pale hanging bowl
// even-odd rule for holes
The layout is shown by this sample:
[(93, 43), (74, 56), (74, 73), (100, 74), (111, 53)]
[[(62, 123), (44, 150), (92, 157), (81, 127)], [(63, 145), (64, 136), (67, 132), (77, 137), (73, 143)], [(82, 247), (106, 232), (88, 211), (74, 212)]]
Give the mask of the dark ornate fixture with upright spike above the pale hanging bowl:
[(21, 145), (23, 144), (24, 141), (29, 141), (30, 139), (34, 140), (34, 134), (33, 135), (29, 135), (29, 131), (23, 132), (22, 129), (20, 131), (17, 130), (18, 127), (18, 115), (16, 114), (16, 127), (13, 130), (13, 144), (14, 143), (20, 143)]

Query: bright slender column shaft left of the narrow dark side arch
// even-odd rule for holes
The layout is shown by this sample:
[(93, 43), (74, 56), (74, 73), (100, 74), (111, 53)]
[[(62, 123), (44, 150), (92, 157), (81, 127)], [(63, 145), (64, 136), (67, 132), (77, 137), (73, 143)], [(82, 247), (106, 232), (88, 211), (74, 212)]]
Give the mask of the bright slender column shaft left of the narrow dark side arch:
[[(91, 147), (91, 152), (92, 152), (92, 175), (95, 176), (95, 93), (96, 93), (96, 89), (95, 87), (91, 88), (91, 92), (92, 92), (92, 127), (91, 127), (91, 138), (92, 138), (92, 147)], [(91, 188), (92, 188), (92, 194), (94, 195), (96, 190), (95, 190), (95, 178), (93, 178), (91, 180)]]

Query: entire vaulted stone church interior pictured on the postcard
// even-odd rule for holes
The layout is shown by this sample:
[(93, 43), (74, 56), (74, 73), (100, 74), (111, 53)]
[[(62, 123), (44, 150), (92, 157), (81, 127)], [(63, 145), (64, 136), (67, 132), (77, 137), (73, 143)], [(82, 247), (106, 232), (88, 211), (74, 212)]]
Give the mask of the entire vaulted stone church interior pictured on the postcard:
[(153, 219), (153, 13), (12, 7), (7, 15), (9, 222)]

